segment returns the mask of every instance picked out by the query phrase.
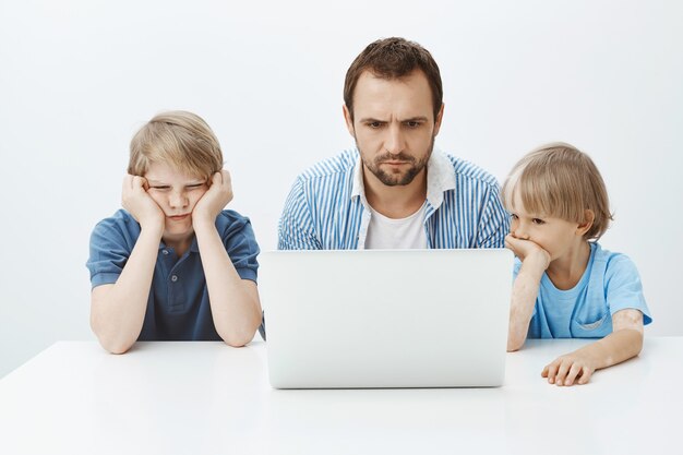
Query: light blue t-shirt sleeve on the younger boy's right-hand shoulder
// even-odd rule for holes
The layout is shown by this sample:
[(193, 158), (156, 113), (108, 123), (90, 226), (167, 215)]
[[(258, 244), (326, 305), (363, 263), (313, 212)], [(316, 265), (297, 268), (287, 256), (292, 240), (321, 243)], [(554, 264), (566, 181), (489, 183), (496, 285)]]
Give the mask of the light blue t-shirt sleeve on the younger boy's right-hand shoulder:
[(619, 254), (609, 262), (604, 275), (604, 294), (611, 314), (620, 310), (635, 309), (643, 313), (644, 324), (652, 322), (643, 296), (640, 276), (628, 256)]

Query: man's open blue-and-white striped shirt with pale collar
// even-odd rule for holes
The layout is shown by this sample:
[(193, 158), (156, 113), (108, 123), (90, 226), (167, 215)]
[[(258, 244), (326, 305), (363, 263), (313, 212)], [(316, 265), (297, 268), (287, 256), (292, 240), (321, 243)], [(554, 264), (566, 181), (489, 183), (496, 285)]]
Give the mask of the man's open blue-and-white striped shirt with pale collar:
[[(428, 248), (504, 247), (510, 217), (493, 176), (434, 149), (427, 187)], [(279, 220), (278, 249), (363, 249), (370, 216), (360, 154), (347, 149), (297, 178)]]

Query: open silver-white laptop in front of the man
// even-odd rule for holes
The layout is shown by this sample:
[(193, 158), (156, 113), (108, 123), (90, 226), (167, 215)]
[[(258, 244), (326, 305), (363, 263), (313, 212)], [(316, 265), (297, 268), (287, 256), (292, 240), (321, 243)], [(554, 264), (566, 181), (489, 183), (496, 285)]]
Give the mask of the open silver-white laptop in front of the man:
[(513, 258), (506, 249), (262, 253), (271, 385), (502, 385)]

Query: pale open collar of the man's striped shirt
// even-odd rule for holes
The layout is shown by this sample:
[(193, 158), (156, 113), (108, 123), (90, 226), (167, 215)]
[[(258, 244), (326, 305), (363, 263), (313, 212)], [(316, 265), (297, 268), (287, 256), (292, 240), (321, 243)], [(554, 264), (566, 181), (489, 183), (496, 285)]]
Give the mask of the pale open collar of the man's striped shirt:
[[(351, 199), (360, 196), (363, 205), (369, 206), (366, 199), (366, 188), (363, 184), (363, 166), (360, 159), (360, 152), (356, 148), (358, 158), (354, 168), (354, 187), (351, 189)], [(439, 208), (443, 202), (443, 193), (448, 190), (455, 190), (455, 173), (453, 165), (439, 148), (432, 151), (427, 163), (427, 202), (429, 205)]]

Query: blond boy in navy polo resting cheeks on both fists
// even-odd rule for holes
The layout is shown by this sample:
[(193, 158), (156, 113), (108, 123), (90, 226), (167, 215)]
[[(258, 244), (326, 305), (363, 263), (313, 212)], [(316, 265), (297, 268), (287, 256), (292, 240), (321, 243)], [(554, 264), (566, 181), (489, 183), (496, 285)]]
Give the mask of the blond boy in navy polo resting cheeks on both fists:
[(110, 352), (135, 340), (249, 343), (261, 324), (259, 246), (224, 207), (230, 175), (209, 127), (164, 112), (131, 141), (123, 209), (91, 237), (91, 326)]

